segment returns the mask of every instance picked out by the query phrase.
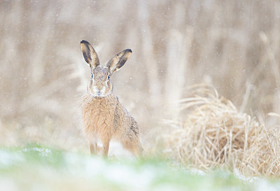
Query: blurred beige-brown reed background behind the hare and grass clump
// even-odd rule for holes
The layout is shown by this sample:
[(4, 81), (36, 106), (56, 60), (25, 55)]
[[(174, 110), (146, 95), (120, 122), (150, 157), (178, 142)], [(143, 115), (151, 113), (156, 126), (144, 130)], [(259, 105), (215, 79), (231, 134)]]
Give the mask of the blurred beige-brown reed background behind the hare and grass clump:
[[(280, 1), (0, 1), (0, 145), (87, 150), (80, 97), (89, 41), (105, 64), (133, 50), (112, 80), (142, 140), (178, 117), (188, 87), (209, 83), (241, 112), (279, 124)], [(158, 130), (157, 130), (158, 131)]]

